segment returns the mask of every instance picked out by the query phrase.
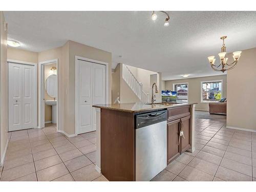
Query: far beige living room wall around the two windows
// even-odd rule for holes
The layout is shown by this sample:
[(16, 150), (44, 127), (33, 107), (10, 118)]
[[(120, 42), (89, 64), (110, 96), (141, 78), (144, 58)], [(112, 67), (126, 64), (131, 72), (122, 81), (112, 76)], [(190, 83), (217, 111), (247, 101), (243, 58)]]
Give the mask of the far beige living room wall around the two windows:
[[(216, 72), (218, 73), (218, 72)], [(219, 74), (219, 73), (218, 73)], [(188, 78), (165, 81), (165, 89), (173, 90), (174, 83), (188, 83), (188, 102), (196, 102), (196, 110), (209, 110), (208, 103), (201, 103), (201, 81), (222, 80), (222, 97), (227, 96), (227, 76), (217, 75), (209, 77)], [(227, 102), (229, 98), (227, 97)]]

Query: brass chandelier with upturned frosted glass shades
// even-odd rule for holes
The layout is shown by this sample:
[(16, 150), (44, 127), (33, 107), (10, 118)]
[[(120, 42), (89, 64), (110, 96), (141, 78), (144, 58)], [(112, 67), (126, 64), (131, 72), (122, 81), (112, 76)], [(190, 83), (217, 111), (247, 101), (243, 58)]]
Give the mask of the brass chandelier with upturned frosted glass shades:
[[(224, 39), (227, 38), (227, 36), (223, 36), (221, 37), (221, 39), (223, 40), (223, 44), (222, 44), (222, 48), (221, 48), (221, 53), (219, 53), (219, 57), (221, 59), (221, 62), (219, 65), (215, 65), (215, 56), (209, 56), (208, 60), (210, 62), (210, 67), (214, 70), (214, 71), (222, 71), (223, 73), (227, 70), (233, 69), (234, 67), (236, 67), (238, 60), (241, 56), (242, 51), (236, 51), (233, 52), (233, 58), (234, 61), (232, 63), (227, 63), (228, 58), (225, 58), (226, 55), (226, 47), (225, 47), (225, 42)], [(221, 66), (221, 69), (219, 68)], [(227, 66), (227, 68), (225, 68)], [(219, 68), (219, 69), (218, 69)]]

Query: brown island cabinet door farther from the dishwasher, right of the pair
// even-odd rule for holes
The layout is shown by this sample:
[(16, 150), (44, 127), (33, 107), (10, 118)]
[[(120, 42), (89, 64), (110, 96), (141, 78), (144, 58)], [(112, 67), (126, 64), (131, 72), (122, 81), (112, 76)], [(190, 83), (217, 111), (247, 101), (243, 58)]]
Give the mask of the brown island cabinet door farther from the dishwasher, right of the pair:
[(190, 147), (190, 116), (181, 118), (180, 131), (183, 130), (184, 138), (181, 137), (181, 153), (185, 152)]

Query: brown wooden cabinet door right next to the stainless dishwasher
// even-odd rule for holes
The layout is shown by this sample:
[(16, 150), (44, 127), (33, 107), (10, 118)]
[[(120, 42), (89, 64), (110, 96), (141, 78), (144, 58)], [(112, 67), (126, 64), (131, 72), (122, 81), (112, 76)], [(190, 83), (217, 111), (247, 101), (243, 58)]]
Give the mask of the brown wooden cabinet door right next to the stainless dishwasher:
[(180, 119), (167, 123), (167, 163), (180, 155), (179, 126)]

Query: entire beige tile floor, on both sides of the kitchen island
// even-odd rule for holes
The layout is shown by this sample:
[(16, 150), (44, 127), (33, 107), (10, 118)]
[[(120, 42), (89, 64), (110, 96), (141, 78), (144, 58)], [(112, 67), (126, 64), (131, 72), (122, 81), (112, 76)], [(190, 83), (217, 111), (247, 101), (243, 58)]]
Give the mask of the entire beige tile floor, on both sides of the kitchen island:
[[(153, 181), (256, 181), (256, 133), (196, 119), (194, 153), (185, 152)], [(94, 168), (95, 133), (67, 138), (53, 124), (9, 133), (1, 181), (106, 181)]]

